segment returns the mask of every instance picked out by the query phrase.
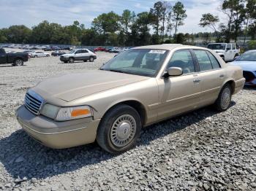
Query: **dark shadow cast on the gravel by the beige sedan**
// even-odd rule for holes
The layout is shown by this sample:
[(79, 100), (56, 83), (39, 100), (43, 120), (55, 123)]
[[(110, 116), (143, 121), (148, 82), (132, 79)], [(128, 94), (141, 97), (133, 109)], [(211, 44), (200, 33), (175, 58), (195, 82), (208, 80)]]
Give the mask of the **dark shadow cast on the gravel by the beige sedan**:
[[(230, 106), (235, 104), (232, 102)], [(183, 130), (189, 125), (215, 114), (217, 112), (208, 106), (171, 120), (150, 125), (143, 128), (137, 145), (138, 147), (148, 145), (155, 139)], [(15, 179), (23, 179), (23, 177), (44, 179), (97, 164), (113, 157), (116, 155), (105, 152), (96, 143), (70, 149), (50, 149), (31, 139), (21, 129), (0, 139), (0, 161), (5, 170)]]

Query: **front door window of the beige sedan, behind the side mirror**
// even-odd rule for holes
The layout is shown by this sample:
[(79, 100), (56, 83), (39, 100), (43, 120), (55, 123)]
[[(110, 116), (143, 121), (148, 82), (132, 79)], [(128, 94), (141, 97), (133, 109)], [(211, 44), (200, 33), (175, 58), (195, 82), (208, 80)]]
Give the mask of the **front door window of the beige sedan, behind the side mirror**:
[(189, 50), (178, 50), (174, 52), (167, 65), (167, 68), (170, 67), (180, 67), (183, 74), (195, 72), (194, 62)]

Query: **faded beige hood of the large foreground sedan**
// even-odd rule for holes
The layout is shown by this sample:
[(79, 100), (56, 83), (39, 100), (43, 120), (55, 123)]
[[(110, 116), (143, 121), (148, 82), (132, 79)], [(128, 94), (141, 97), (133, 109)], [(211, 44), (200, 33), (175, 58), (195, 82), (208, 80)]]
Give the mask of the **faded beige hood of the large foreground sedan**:
[[(61, 77), (46, 79), (39, 82), (32, 90), (64, 101), (72, 101), (148, 78), (113, 71), (87, 71), (85, 73), (66, 74)], [(42, 97), (44, 96), (42, 95)]]

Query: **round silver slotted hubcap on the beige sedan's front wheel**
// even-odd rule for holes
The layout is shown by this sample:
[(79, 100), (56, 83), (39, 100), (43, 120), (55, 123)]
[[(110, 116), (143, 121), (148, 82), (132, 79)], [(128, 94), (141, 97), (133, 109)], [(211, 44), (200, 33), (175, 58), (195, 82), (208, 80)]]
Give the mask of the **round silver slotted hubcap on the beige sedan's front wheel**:
[(113, 122), (110, 130), (110, 139), (116, 147), (124, 147), (135, 136), (136, 121), (132, 115), (123, 114)]

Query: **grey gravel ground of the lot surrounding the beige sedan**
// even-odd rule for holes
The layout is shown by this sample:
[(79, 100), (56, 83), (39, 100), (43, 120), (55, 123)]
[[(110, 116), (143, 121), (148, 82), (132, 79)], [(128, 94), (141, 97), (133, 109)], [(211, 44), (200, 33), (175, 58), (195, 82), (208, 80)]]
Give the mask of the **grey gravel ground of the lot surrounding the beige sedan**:
[(144, 128), (138, 146), (110, 155), (97, 144), (49, 149), (15, 120), (26, 90), (48, 77), (97, 69), (94, 63), (31, 58), (0, 66), (0, 190), (256, 190), (256, 90), (233, 96), (227, 112), (211, 107)]

